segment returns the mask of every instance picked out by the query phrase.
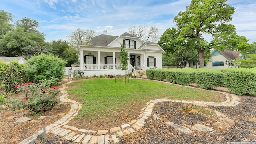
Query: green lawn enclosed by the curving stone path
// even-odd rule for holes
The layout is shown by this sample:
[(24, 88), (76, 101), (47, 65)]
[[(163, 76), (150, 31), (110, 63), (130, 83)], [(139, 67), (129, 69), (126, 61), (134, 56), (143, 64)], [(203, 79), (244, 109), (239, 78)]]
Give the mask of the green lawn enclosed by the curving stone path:
[[(82, 104), (76, 119), (120, 117), (122, 113), (132, 114), (146, 106), (146, 102), (158, 98), (179, 100), (199, 100), (218, 102), (222, 94), (208, 90), (198, 90), (152, 80), (89, 79), (72, 82), (67, 88), (69, 98)], [(139, 114), (138, 111), (136, 114)]]

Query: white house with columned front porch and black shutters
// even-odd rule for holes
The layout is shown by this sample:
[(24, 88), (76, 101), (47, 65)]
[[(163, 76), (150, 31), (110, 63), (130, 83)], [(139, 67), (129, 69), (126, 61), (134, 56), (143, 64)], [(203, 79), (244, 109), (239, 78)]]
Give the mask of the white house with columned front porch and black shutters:
[(144, 42), (127, 32), (120, 36), (102, 34), (92, 38), (90, 45), (78, 45), (80, 70), (84, 72), (84, 76), (123, 74), (120, 70), (120, 43), (125, 44), (130, 57), (128, 70), (136, 72), (148, 68), (162, 68), (164, 50), (158, 44)]

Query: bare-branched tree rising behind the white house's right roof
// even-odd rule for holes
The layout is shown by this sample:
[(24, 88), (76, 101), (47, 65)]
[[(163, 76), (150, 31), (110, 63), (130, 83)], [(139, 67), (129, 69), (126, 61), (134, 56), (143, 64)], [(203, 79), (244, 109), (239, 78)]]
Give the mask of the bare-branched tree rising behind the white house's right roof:
[(129, 33), (144, 41), (151, 40), (156, 42), (160, 37), (159, 29), (156, 26), (134, 25), (129, 28)]

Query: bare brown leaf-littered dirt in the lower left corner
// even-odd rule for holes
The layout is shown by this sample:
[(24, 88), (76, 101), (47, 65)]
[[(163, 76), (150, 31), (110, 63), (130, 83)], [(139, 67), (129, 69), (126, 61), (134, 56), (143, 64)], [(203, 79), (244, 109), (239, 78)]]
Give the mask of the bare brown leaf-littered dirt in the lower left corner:
[[(57, 87), (61, 88), (61, 84), (63, 83), (65, 82), (58, 84)], [(12, 98), (17, 99), (22, 99), (23, 97), (24, 96), (20, 94), (12, 96)], [(55, 106), (53, 110), (40, 114), (35, 114), (30, 110), (16, 110), (14, 112), (9, 108), (6, 110), (0, 110), (0, 144), (17, 144), (41, 130), (43, 125), (48, 126), (58, 121), (63, 117), (63, 114), (68, 113), (69, 110), (70, 105), (66, 103), (60, 103)], [(31, 118), (31, 120), (26, 123), (14, 123), (18, 118), (24, 116)], [(44, 120), (38, 120), (40, 116), (49, 117)]]

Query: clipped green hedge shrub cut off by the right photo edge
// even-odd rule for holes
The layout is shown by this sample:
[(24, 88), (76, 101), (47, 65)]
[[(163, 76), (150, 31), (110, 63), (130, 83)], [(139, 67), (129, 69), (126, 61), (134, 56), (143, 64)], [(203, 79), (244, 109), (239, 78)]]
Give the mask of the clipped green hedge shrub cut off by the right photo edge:
[(230, 68), (225, 74), (225, 84), (230, 92), (240, 96), (256, 96), (256, 68)]

